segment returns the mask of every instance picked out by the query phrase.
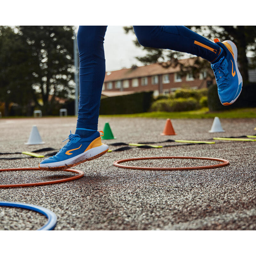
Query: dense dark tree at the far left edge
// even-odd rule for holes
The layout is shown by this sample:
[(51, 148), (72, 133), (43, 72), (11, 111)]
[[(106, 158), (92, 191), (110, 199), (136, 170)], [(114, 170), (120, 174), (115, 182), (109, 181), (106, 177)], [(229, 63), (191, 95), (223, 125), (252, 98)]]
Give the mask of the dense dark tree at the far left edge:
[(5, 103), (5, 116), (11, 102), (28, 105), (32, 88), (26, 76), (28, 54), (13, 28), (0, 26), (0, 101)]

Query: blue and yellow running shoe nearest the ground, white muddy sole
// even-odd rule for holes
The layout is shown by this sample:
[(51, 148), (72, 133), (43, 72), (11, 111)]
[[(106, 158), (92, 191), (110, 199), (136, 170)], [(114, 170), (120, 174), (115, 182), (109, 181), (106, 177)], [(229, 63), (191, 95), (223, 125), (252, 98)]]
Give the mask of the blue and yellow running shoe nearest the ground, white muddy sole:
[(68, 143), (55, 156), (44, 159), (39, 168), (61, 171), (104, 155), (108, 152), (108, 145), (101, 143), (100, 136), (100, 132), (95, 132), (88, 138), (81, 138), (70, 131), (66, 139), (69, 140)]

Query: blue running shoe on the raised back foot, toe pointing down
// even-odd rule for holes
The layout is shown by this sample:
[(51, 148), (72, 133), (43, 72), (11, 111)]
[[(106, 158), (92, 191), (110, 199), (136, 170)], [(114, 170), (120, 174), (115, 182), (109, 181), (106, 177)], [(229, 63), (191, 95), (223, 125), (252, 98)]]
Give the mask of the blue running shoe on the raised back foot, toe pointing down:
[(211, 67), (216, 78), (220, 102), (228, 106), (237, 100), (243, 86), (243, 79), (237, 67), (237, 48), (229, 40), (220, 43), (218, 39), (214, 39), (214, 42), (226, 52), (226, 57), (211, 64)]

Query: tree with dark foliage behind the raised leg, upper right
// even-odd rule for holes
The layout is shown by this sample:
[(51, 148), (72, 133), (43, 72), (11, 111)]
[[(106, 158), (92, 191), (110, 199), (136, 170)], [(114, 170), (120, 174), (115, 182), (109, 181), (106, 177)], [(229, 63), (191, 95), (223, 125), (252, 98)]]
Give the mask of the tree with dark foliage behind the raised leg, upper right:
[[(256, 26), (187, 26), (189, 29), (201, 34), (202, 36), (213, 40), (219, 38), (220, 41), (232, 40), (237, 46), (238, 62), (240, 63), (239, 71), (243, 77), (243, 81), (248, 81), (248, 69), (256, 66)], [(128, 33), (133, 31), (132, 26), (124, 27), (124, 31)], [(155, 49), (143, 47), (138, 40), (134, 41), (135, 45), (141, 47), (147, 53), (144, 57), (136, 57), (143, 64), (156, 63), (159, 61), (167, 61), (167, 66), (180, 65), (181, 71), (192, 70), (194, 75), (198, 75), (198, 70), (210, 67), (208, 61), (196, 59), (193, 66), (184, 66), (178, 62), (179, 58), (184, 57), (184, 53), (175, 52), (164, 49)], [(251, 51), (252, 63), (248, 64), (246, 52)]]

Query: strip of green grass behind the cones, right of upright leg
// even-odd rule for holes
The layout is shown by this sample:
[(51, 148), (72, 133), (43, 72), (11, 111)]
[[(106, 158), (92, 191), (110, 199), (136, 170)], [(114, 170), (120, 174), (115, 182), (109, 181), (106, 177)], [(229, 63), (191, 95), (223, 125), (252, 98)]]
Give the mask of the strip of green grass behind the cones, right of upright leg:
[(146, 112), (125, 115), (101, 115), (101, 117), (147, 117), (147, 118), (256, 118), (256, 108), (238, 108), (227, 111), (209, 112), (209, 108), (201, 108), (184, 112)]

